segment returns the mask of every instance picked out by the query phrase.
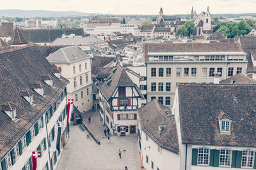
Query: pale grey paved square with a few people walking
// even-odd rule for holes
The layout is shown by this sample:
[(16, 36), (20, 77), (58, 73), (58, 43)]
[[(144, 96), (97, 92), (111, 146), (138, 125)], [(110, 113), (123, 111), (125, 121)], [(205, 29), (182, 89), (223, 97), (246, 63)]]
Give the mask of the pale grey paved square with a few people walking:
[[(89, 170), (129, 170), (140, 169), (139, 146), (136, 134), (129, 136), (104, 137), (104, 127), (100, 123), (99, 113), (84, 113), (84, 122), (88, 124), (88, 116), (92, 122), (88, 125), (93, 133), (98, 135), (100, 145), (86, 131), (81, 131), (79, 125), (70, 127), (70, 139), (58, 164), (58, 170), (89, 169)], [(85, 118), (86, 117), (86, 118)], [(122, 159), (119, 159), (118, 149), (121, 149)]]

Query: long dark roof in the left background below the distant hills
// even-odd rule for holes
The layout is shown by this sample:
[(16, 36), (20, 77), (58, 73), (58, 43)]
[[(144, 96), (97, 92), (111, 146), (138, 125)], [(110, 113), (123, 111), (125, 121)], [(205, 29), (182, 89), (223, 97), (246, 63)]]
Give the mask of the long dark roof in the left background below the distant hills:
[(61, 38), (63, 34), (84, 36), (83, 28), (72, 29), (20, 29), (24, 38), (33, 43), (51, 43), (56, 38)]

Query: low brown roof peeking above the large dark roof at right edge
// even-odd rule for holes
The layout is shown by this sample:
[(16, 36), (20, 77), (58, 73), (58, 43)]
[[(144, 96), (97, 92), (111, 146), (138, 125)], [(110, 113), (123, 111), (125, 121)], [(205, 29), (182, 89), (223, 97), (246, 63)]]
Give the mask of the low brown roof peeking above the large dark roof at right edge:
[(232, 81), (235, 81), (234, 84), (256, 84), (256, 80), (248, 76), (244, 76), (243, 74), (236, 74), (226, 80), (221, 80), (220, 84), (232, 84)]

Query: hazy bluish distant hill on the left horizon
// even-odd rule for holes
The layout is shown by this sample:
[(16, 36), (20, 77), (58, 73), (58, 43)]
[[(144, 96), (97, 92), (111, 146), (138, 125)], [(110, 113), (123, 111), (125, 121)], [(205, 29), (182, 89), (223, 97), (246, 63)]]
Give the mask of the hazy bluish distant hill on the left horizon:
[(0, 10), (0, 16), (21, 17), (21, 18), (80, 17), (80, 16), (87, 16), (87, 15), (91, 15), (91, 14), (90, 13), (78, 12), (78, 11)]

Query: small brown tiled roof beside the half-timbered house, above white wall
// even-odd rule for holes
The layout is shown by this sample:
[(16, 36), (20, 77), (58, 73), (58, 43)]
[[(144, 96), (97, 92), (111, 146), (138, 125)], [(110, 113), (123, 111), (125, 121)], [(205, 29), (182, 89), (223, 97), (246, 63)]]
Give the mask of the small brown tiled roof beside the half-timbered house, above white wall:
[[(166, 114), (168, 111), (168, 115)], [(163, 106), (156, 99), (138, 109), (141, 129), (159, 146), (179, 153), (179, 141), (174, 115), (170, 107)], [(159, 125), (164, 125), (159, 132)]]

